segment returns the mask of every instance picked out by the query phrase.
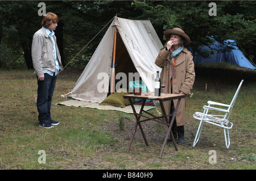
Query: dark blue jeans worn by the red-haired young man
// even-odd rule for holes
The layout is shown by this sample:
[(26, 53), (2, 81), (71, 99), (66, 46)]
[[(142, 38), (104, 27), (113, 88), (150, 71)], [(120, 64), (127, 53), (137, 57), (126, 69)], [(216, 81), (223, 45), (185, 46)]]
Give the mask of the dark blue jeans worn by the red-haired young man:
[(55, 73), (53, 73), (53, 76), (44, 73), (44, 80), (38, 81), (38, 100), (36, 101), (36, 106), (38, 107), (39, 122), (46, 123), (51, 121), (52, 95), (55, 89), (56, 79), (57, 76)]

